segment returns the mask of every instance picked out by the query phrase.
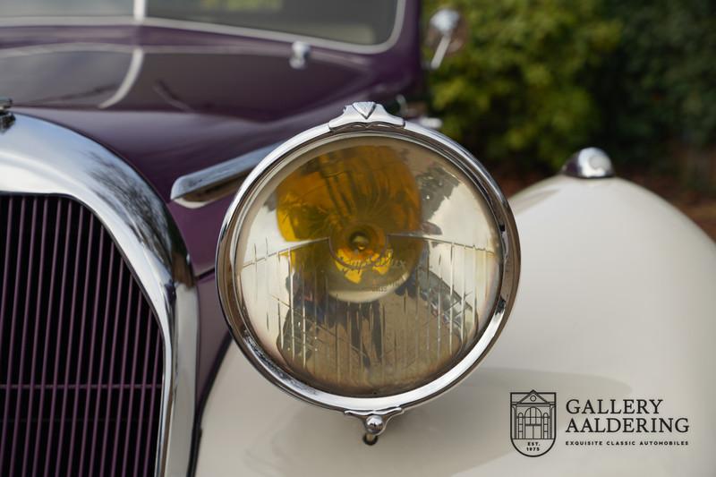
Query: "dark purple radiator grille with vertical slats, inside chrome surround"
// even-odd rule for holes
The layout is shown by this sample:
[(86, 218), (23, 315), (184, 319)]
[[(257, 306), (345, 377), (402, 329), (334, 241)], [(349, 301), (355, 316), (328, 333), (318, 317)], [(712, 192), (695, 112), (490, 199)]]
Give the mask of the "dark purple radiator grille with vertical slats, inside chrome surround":
[(89, 209), (0, 194), (0, 475), (153, 474), (157, 317)]

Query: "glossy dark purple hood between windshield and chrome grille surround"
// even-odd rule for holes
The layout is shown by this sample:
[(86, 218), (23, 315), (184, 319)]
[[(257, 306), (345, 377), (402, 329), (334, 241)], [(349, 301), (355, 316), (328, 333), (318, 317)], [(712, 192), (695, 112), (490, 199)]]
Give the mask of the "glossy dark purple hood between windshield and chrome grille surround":
[(0, 30), (0, 96), (143, 175), (175, 217), (197, 275), (213, 268), (228, 200), (185, 209), (170, 199), (177, 178), (324, 123), (346, 103), (391, 98), (419, 71), (410, 35), (371, 55), (312, 48), (296, 69), (291, 44), (280, 41), (152, 27)]

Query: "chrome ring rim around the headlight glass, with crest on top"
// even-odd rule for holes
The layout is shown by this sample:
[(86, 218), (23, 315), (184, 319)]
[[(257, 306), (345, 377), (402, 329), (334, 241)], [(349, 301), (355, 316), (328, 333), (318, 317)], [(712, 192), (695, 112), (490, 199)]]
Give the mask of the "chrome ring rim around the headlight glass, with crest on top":
[[(363, 112), (369, 109), (371, 113), (366, 117)], [(249, 312), (240, 305), (234, 283), (234, 252), (239, 231), (247, 210), (255, 198), (255, 193), (261, 189), (263, 183), (268, 181), (269, 176), (277, 169), (292, 163), (293, 159), (303, 156), (311, 149), (356, 135), (379, 135), (402, 141), (413, 141), (422, 147), (433, 150), (452, 166), (456, 166), (470, 180), (475, 189), (481, 192), (486, 201), (494, 224), (498, 227), (503, 252), (503, 260), (499, 264), (498, 299), (492, 304), (489, 324), (482, 331), (482, 335), (472, 349), (453, 368), (437, 379), (419, 388), (390, 396), (341, 396), (312, 388), (289, 374), (273, 361), (252, 335)], [(497, 341), (507, 322), (507, 315), (515, 301), (519, 281), (520, 249), (515, 220), (507, 200), (499, 190), (497, 183), (476, 158), (455, 141), (439, 132), (388, 115), (382, 106), (362, 103), (346, 106), (344, 115), (328, 124), (321, 124), (297, 134), (269, 153), (251, 171), (227, 209), (218, 239), (216, 266), (219, 301), (226, 324), (243, 354), (264, 378), (290, 395), (312, 405), (319, 405), (343, 413), (367, 416), (372, 413), (402, 413), (405, 409), (439, 396), (473, 371)]]

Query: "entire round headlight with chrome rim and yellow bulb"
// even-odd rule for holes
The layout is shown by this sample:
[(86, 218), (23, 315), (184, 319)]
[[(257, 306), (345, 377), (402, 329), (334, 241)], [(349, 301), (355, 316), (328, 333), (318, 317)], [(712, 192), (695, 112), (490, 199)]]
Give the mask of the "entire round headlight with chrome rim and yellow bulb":
[(518, 261), (507, 201), (465, 149), (358, 103), (246, 179), (226, 214), (217, 283), (254, 366), (377, 435), (486, 353)]

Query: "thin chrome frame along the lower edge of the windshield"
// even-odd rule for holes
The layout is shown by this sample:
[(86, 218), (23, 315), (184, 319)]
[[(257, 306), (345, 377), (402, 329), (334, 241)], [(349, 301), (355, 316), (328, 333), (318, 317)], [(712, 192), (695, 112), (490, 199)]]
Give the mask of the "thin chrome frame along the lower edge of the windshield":
[[(141, 3), (143, 0), (137, 0)], [(400, 32), (403, 30), (405, 21), (405, 0), (397, 0), (396, 2), (396, 21), (390, 36), (383, 43), (378, 45), (356, 45), (345, 41), (338, 41), (326, 38), (315, 38), (307, 35), (298, 35), (294, 33), (285, 33), (281, 31), (259, 30), (247, 27), (234, 27), (230, 25), (217, 25), (215, 23), (202, 23), (200, 21), (183, 21), (165, 18), (156, 18), (146, 16), (146, 11), (138, 15), (140, 5), (134, 4), (132, 16), (116, 15), (116, 16), (88, 16), (88, 17), (8, 17), (0, 19), (0, 26), (36, 26), (36, 25), (71, 25), (71, 26), (102, 26), (102, 25), (119, 25), (119, 26), (141, 26), (172, 28), (180, 30), (205, 31), (208, 33), (219, 33), (248, 38), (268, 39), (272, 41), (281, 41), (286, 43), (294, 43), (295, 41), (303, 41), (311, 45), (311, 47), (321, 47), (345, 51), (347, 53), (375, 54), (387, 51), (396, 44)], [(146, 10), (146, 4), (144, 5)]]

